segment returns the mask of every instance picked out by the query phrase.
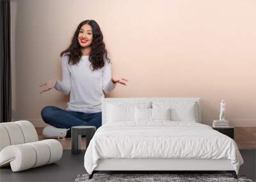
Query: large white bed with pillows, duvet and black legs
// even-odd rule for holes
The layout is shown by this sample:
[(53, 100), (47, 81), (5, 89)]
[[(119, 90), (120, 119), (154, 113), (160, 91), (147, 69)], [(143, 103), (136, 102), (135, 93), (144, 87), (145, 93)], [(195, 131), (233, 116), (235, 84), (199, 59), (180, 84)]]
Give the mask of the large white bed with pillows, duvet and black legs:
[(102, 126), (84, 167), (99, 171), (227, 171), (243, 158), (230, 137), (201, 123), (200, 98), (103, 98)]

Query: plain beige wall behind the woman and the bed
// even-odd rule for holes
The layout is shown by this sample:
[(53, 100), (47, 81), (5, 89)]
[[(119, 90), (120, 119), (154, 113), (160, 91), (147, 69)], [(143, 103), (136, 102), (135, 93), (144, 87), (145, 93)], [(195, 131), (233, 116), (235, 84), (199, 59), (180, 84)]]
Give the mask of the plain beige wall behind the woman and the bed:
[(231, 123), (256, 126), (256, 1), (11, 1), (17, 3), (15, 119), (43, 126), (43, 107), (66, 109), (67, 96), (39, 95), (38, 86), (61, 79), (60, 52), (79, 22), (95, 19), (113, 75), (131, 80), (109, 96), (200, 97), (204, 123), (218, 118), (225, 99)]

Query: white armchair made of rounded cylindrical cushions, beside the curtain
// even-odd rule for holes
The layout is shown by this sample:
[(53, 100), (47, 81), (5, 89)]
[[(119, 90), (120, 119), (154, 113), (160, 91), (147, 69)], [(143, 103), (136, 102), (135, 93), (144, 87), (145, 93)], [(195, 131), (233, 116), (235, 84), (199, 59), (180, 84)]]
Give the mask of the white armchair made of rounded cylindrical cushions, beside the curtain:
[(0, 123), (0, 139), (0, 167), (11, 165), (13, 172), (56, 162), (63, 153), (58, 140), (38, 141), (29, 121)]

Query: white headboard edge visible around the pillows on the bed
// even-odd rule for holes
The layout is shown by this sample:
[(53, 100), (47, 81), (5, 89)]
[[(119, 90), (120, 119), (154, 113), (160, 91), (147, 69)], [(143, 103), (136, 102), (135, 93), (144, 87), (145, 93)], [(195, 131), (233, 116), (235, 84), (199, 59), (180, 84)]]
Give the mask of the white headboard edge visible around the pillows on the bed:
[[(196, 123), (201, 123), (201, 101), (200, 98), (102, 98), (102, 125), (104, 125), (104, 123), (106, 123), (106, 115), (107, 115), (107, 110), (106, 110), (106, 106), (107, 103), (116, 103), (116, 102), (120, 102), (120, 103), (138, 103), (138, 102), (173, 102), (173, 103), (177, 103), (177, 102), (189, 102), (189, 103), (196, 103), (197, 108), (198, 108), (198, 121), (196, 121)], [(150, 104), (151, 105), (151, 104)]]

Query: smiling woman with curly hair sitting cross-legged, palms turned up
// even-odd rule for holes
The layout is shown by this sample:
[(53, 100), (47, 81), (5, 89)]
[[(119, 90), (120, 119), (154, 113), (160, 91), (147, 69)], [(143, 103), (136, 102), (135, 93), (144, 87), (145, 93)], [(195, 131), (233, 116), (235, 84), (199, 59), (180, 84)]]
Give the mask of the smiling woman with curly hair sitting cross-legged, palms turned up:
[(41, 84), (41, 93), (54, 87), (66, 95), (70, 93), (70, 102), (67, 103), (67, 110), (44, 107), (42, 119), (56, 128), (81, 125), (99, 128), (102, 124), (101, 100), (104, 93), (112, 91), (116, 84), (126, 85), (128, 80), (111, 77), (110, 59), (97, 22), (81, 22), (70, 46), (60, 55), (62, 80), (52, 79)]

